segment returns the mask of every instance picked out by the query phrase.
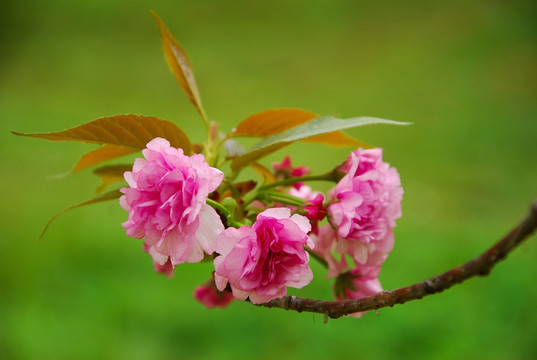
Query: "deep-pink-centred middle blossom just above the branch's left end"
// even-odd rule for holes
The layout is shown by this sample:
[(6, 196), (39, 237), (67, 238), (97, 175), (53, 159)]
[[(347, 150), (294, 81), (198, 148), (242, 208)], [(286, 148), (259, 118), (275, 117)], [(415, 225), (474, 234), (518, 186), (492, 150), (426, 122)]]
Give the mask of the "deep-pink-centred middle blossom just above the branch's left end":
[(308, 266), (313, 248), (308, 219), (289, 208), (273, 208), (257, 215), (256, 222), (228, 228), (216, 240), (215, 282), (223, 291), (228, 282), (233, 296), (261, 304), (285, 296), (287, 286), (302, 288), (313, 279)]

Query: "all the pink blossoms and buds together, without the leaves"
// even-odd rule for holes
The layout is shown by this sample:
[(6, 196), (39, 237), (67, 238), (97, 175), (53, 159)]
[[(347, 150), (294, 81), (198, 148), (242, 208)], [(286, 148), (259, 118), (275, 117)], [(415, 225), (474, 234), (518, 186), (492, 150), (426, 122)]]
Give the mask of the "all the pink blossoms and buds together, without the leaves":
[[(336, 299), (382, 290), (378, 275), (393, 248), (403, 190), (381, 149), (351, 153), (334, 172), (340, 179), (326, 199), (300, 181), (309, 170), (293, 168), (285, 158), (273, 165), (284, 195), (270, 201), (260, 192), (252, 201), (255, 210), (241, 209), (246, 215), (233, 222), (239, 225), (227, 228), (224, 207), (207, 204), (210, 194), (221, 200), (224, 175), (203, 155), (184, 155), (161, 138), (149, 142), (143, 155), (125, 173), (129, 187), (122, 189), (120, 203), (129, 218), (123, 227), (127, 235), (145, 238), (155, 269), (167, 275), (178, 264), (211, 255), (213, 277), (194, 293), (207, 307), (233, 299), (261, 304), (285, 296), (287, 287), (306, 286), (313, 278), (309, 252), (325, 263), (327, 278), (337, 278)], [(286, 197), (292, 201), (286, 204)]]

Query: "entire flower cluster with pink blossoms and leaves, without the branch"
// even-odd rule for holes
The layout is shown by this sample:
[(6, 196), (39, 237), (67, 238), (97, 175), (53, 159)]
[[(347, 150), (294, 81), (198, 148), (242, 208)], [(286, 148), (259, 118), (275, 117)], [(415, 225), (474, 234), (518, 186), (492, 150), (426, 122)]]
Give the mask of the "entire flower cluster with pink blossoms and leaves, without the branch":
[[(131, 164), (108, 164), (93, 170), (103, 181), (97, 192), (123, 180), (128, 187), (68, 209), (119, 198), (128, 212), (122, 224), (127, 235), (144, 239), (142, 248), (155, 271), (169, 277), (177, 265), (212, 261), (210, 279), (194, 292), (209, 308), (225, 307), (233, 299), (263, 304), (285, 296), (288, 287), (302, 288), (313, 279), (310, 258), (326, 266), (328, 279), (335, 278), (336, 299), (380, 291), (378, 275), (393, 248), (403, 194), (399, 174), (382, 161), (382, 150), (359, 148), (318, 175), (293, 166), (289, 156), (272, 169), (259, 160), (300, 141), (356, 147), (362, 142), (342, 130), (405, 123), (279, 108), (252, 114), (222, 133), (206, 115), (186, 52), (160, 17), (151, 15), (166, 62), (201, 116), (207, 140), (193, 143), (173, 122), (135, 114), (102, 117), (58, 132), (13, 132), (102, 145), (83, 155), (73, 172), (142, 151), (132, 169)], [(247, 150), (237, 137), (261, 140)], [(247, 168), (261, 180), (239, 181)], [(306, 185), (309, 181), (334, 187), (323, 193)]]

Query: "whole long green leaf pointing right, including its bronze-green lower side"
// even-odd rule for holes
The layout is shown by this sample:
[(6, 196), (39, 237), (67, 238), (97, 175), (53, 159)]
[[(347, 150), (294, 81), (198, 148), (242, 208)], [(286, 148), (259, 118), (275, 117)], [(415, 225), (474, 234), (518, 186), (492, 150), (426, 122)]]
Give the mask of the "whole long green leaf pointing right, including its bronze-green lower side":
[(372, 124), (407, 125), (408, 123), (372, 117), (338, 119), (332, 116), (322, 116), (263, 139), (254, 145), (247, 153), (235, 158), (231, 162), (231, 169), (237, 171), (296, 141), (308, 140), (319, 136), (322, 139), (323, 135), (330, 134), (334, 131)]

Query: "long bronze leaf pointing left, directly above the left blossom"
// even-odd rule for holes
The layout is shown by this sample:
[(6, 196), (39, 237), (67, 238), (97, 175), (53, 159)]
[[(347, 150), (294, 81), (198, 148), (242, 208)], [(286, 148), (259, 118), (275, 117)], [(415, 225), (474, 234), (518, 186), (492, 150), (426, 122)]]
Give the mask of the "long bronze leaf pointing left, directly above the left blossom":
[(143, 149), (156, 137), (167, 139), (176, 148), (190, 154), (190, 140), (174, 123), (154, 116), (115, 115), (93, 120), (74, 128), (49, 133), (25, 134), (12, 131), (15, 135), (30, 136), (51, 141), (80, 141), (94, 144), (116, 145)]

